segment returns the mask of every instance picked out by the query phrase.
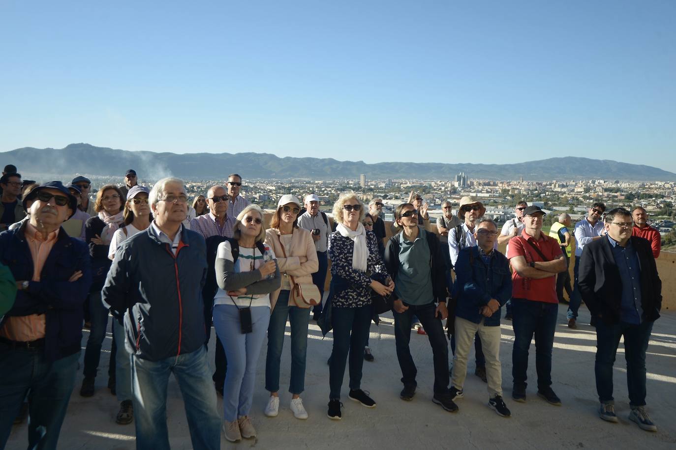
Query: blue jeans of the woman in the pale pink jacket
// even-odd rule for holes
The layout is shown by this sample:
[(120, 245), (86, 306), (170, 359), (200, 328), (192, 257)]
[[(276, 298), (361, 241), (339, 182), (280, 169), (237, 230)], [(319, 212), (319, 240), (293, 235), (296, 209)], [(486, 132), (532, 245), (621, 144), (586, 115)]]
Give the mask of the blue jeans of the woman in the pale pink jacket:
[(305, 363), (308, 353), (310, 308), (289, 306), (289, 291), (280, 291), (268, 325), (268, 356), (265, 362), (265, 389), (279, 391), (279, 362), (282, 358), (287, 317), (291, 322), (291, 381), (289, 392), (305, 391)]

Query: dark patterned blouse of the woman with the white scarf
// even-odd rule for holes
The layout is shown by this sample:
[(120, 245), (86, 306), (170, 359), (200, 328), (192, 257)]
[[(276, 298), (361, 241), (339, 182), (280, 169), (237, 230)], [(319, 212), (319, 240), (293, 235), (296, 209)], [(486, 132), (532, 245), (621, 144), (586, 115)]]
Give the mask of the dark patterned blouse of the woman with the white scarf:
[[(338, 231), (329, 235), (329, 258), (331, 259), (331, 277), (334, 279), (333, 298), (335, 308), (358, 308), (371, 304), (370, 283), (372, 273), (388, 276), (385, 263), (378, 252), (378, 241), (373, 231), (366, 231), (368, 258), (366, 272), (352, 268), (352, 250), (354, 241), (344, 237)], [(343, 286), (338, 280), (343, 281)], [(345, 286), (347, 285), (347, 286)]]

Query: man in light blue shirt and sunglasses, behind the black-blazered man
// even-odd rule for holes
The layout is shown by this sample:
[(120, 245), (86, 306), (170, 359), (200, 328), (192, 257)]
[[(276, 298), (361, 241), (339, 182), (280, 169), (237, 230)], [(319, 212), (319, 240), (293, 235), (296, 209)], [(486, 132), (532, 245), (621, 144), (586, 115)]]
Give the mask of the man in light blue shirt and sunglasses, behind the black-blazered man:
[[(571, 296), (571, 303), (566, 312), (569, 328), (577, 328), (577, 311), (580, 309), (582, 303), (582, 296), (580, 288), (577, 285), (577, 276), (579, 273), (580, 257), (585, 246), (591, 242), (601, 239), (606, 235), (602, 216), (606, 212), (606, 205), (602, 202), (596, 202), (589, 208), (587, 217), (575, 224), (575, 266), (573, 267), (573, 295)], [(590, 321), (594, 325), (594, 318)]]

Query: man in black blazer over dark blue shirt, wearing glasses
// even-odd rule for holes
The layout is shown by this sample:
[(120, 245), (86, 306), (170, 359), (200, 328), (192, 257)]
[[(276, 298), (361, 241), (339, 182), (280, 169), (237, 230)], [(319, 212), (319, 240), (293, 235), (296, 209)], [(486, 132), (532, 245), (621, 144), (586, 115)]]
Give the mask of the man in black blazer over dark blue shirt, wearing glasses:
[(625, 338), (629, 419), (656, 431), (646, 413), (646, 349), (662, 307), (662, 282), (650, 242), (632, 236), (631, 213), (615, 208), (606, 214), (605, 237), (585, 246), (580, 258), (579, 287), (596, 318), (596, 391), (599, 415), (617, 422), (612, 398), (612, 364), (620, 337)]

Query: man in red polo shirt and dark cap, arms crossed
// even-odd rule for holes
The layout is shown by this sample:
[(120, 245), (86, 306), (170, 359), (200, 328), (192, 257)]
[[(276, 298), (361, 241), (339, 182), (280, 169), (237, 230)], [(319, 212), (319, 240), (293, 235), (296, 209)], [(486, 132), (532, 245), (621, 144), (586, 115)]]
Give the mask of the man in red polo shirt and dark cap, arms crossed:
[(523, 211), (524, 229), (512, 237), (507, 257), (512, 269), (512, 377), (515, 401), (526, 401), (528, 349), (535, 335), (537, 395), (552, 405), (561, 400), (552, 390), (552, 347), (558, 315), (556, 274), (566, 270), (558, 240), (542, 233), (545, 213), (539, 206)]

